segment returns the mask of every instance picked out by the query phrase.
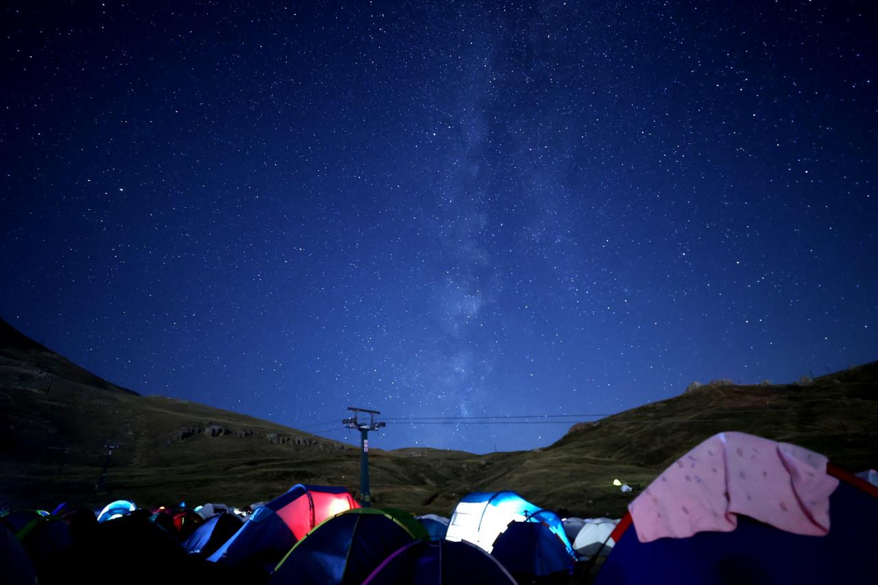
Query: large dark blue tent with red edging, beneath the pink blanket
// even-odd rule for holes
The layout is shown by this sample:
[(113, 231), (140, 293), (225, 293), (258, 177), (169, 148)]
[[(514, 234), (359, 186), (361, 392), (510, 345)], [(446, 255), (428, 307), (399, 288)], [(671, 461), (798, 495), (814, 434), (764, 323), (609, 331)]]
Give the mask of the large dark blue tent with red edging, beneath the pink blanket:
[(616, 544), (594, 581), (650, 583), (859, 583), (874, 575), (878, 488), (827, 466), (840, 480), (830, 496), (830, 531), (802, 536), (738, 515), (730, 532), (689, 538), (637, 539), (626, 515), (613, 533)]

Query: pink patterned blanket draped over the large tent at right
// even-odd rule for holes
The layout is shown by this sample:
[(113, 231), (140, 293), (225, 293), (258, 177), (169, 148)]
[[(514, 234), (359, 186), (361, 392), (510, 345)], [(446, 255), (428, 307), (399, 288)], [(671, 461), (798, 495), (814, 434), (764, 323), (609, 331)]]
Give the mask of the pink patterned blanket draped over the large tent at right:
[(793, 444), (725, 432), (668, 467), (628, 509), (640, 542), (735, 530), (736, 514), (782, 531), (829, 532), (829, 496), (838, 480), (826, 458)]

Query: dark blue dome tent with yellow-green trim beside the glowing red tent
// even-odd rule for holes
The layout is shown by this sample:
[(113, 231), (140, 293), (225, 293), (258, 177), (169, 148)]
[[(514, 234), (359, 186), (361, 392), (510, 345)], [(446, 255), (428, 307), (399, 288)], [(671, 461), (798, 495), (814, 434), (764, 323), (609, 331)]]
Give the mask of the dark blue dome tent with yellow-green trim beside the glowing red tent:
[(392, 553), (428, 533), (400, 510), (359, 508), (328, 519), (300, 540), (270, 585), (362, 583)]

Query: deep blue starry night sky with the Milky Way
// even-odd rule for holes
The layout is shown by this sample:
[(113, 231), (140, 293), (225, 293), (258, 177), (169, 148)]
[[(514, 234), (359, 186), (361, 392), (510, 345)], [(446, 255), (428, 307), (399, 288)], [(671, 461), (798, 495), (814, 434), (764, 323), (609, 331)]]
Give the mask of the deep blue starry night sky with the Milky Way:
[[(486, 452), (878, 359), (873, 2), (0, 10), (0, 315), (140, 394)], [(485, 415), (577, 416), (399, 422)]]

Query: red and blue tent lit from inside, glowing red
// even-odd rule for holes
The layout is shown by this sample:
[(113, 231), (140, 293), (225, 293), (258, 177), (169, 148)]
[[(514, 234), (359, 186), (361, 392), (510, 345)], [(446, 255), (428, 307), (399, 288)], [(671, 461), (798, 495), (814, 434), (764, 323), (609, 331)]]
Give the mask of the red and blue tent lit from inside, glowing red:
[(284, 495), (255, 509), (241, 530), (208, 560), (271, 573), (277, 561), (314, 526), (358, 507), (344, 488), (293, 486)]

